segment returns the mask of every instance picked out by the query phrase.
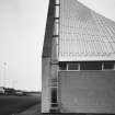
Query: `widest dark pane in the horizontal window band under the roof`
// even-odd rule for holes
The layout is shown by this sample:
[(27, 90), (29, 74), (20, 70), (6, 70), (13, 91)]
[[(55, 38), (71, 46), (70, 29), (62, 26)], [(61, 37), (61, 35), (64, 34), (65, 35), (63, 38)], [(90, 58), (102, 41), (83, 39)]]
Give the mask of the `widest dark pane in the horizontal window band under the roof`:
[(100, 61), (80, 62), (80, 70), (102, 70), (102, 62)]

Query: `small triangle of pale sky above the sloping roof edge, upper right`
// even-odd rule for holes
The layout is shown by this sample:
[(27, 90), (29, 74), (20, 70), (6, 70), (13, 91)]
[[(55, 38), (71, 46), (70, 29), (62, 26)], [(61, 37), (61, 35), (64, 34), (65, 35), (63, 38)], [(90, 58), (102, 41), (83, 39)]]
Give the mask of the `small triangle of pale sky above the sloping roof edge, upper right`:
[(115, 0), (78, 0), (97, 13), (115, 21)]

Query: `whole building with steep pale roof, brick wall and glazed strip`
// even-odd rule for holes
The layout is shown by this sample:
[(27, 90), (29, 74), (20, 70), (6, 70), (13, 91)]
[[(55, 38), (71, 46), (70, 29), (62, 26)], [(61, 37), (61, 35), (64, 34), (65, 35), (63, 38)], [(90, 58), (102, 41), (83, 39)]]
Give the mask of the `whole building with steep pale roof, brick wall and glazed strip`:
[(115, 114), (115, 22), (77, 0), (49, 0), (43, 113)]

